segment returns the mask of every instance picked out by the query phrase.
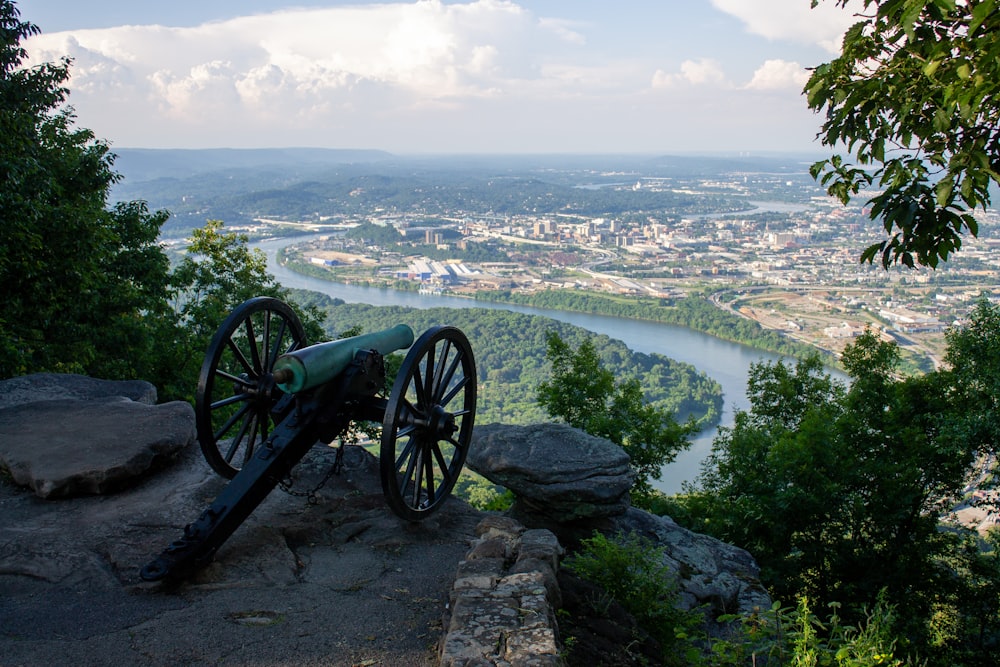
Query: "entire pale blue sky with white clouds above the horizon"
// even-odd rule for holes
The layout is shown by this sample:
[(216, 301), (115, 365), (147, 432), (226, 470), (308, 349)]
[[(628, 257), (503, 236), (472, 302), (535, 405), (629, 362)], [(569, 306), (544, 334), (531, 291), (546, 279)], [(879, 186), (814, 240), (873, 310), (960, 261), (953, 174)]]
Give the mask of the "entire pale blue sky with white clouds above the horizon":
[(19, 0), (114, 147), (825, 152), (826, 0)]

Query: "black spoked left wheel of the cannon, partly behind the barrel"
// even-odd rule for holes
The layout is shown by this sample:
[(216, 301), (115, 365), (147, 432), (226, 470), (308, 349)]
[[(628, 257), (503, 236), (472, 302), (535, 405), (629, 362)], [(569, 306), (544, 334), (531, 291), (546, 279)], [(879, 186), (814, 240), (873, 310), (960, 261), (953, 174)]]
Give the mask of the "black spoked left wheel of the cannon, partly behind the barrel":
[(281, 421), (291, 397), (271, 371), (279, 356), (304, 347), (305, 337), (295, 312), (266, 296), (243, 302), (215, 332), (194, 409), (201, 451), (223, 477), (234, 477)]

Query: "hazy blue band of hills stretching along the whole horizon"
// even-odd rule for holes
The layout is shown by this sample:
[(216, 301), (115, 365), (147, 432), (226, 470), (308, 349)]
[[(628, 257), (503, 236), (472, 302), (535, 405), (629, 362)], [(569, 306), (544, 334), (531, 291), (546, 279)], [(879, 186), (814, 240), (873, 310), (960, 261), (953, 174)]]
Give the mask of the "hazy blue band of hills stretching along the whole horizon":
[(116, 154), (123, 179), (112, 199), (169, 211), (164, 237), (186, 236), (210, 219), (235, 227), (260, 219), (360, 220), (386, 213), (666, 222), (752, 210), (745, 188), (732, 185), (748, 177), (767, 199), (787, 194), (790, 181), (811, 182), (800, 156), (396, 155), (324, 148), (125, 148)]

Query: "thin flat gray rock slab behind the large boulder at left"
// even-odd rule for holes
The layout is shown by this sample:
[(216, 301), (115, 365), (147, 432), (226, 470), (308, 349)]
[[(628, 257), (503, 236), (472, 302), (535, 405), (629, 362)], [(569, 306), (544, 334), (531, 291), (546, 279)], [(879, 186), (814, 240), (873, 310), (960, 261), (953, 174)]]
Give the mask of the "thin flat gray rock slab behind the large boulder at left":
[(35, 401), (123, 397), (156, 404), (156, 387), (144, 380), (99, 380), (69, 373), (35, 373), (0, 381), (0, 409)]

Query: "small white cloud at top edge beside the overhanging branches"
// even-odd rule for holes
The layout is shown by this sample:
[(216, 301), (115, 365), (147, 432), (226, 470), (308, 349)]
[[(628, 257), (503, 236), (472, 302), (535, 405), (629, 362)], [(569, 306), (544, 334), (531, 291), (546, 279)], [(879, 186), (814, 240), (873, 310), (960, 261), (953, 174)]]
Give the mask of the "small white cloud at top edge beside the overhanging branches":
[(768, 39), (781, 39), (821, 46), (840, 52), (844, 32), (858, 21), (861, 0), (839, 7), (824, 0), (811, 9), (809, 0), (712, 0), (712, 5), (746, 24), (749, 32)]

